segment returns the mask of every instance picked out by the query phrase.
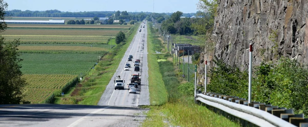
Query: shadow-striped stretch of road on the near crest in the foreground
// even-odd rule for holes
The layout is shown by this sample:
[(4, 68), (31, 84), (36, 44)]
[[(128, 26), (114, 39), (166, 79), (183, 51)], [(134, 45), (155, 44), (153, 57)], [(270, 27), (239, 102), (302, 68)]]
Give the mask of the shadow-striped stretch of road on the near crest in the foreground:
[(0, 105), (1, 127), (138, 126), (146, 109), (60, 104)]

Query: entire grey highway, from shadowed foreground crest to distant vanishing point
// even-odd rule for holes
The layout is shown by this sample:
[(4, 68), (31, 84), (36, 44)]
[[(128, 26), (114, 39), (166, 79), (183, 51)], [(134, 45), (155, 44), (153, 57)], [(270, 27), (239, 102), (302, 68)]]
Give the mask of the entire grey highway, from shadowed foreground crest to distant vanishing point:
[[(61, 104), (18, 104), (0, 105), (0, 127), (119, 127), (139, 126), (145, 119), (139, 105), (149, 105), (148, 63), (147, 63), (147, 26), (136, 31), (128, 50), (119, 64), (114, 76), (98, 103), (93, 105)], [(133, 55), (133, 61), (140, 59), (140, 72), (134, 71), (134, 63), (127, 61)], [(119, 59), (120, 60), (120, 59)], [(126, 63), (132, 66), (124, 71)], [(141, 85), (137, 93), (129, 93), (128, 83), (132, 74), (141, 75)], [(114, 90), (114, 77), (120, 75), (125, 80), (125, 90)]]

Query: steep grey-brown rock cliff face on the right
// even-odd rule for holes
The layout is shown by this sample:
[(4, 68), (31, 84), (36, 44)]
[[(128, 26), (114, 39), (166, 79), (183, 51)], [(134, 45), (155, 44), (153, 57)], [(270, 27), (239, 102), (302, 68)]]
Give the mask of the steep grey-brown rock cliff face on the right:
[[(248, 68), (249, 43), (253, 64), (280, 56), (308, 63), (308, 0), (218, 0), (213, 31), (215, 50), (203, 60), (222, 58), (241, 70)], [(202, 57), (201, 57), (202, 58)], [(203, 68), (199, 68), (202, 75)], [(203, 80), (201, 77), (199, 81)]]

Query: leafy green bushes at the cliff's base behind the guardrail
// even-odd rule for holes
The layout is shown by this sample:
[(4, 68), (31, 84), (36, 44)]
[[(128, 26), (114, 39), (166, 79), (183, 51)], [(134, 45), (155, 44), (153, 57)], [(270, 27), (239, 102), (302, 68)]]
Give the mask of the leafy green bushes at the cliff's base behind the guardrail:
[[(217, 58), (216, 58), (217, 59)], [(209, 92), (248, 97), (248, 73), (222, 59), (209, 72)], [(308, 114), (308, 68), (296, 60), (281, 58), (276, 64), (262, 62), (253, 70), (252, 100)]]

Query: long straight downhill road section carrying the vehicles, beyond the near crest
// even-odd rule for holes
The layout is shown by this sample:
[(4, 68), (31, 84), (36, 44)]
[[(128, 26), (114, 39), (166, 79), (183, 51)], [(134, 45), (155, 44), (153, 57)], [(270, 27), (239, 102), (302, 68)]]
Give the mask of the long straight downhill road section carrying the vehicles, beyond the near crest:
[[(98, 105), (115, 105), (115, 106), (139, 106), (149, 105), (149, 89), (148, 89), (148, 50), (147, 50), (147, 25), (141, 23), (142, 27), (138, 28), (136, 35), (130, 43), (125, 55), (121, 59), (119, 67), (117, 68), (112, 79), (106, 87), (105, 92), (101, 96)], [(141, 32), (139, 30), (141, 29)], [(132, 61), (128, 61), (128, 56), (133, 55)], [(134, 61), (140, 59), (140, 71), (134, 71)], [(119, 59), (120, 60), (120, 59)], [(131, 64), (129, 71), (124, 71), (126, 63)], [(128, 84), (131, 83), (130, 79), (132, 74), (141, 75), (141, 85), (138, 86), (137, 93), (128, 92)], [(120, 75), (121, 79), (125, 80), (124, 90), (114, 89), (114, 80), (116, 76)]]

